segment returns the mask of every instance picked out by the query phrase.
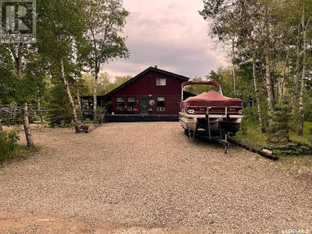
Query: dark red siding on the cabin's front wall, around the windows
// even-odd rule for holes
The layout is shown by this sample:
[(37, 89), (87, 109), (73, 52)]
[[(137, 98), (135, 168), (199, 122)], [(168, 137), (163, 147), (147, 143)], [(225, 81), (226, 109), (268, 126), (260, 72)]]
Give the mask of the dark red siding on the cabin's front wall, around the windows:
[[(157, 78), (166, 78), (166, 86), (157, 86)], [(128, 96), (135, 96), (137, 114), (140, 113), (140, 98), (148, 97), (149, 100), (155, 100), (155, 105), (148, 105), (148, 109), (153, 109), (152, 114), (156, 115), (177, 115), (180, 111), (181, 101), (181, 84), (183, 80), (170, 75), (159, 73), (157, 71), (149, 71), (141, 77), (137, 78), (123, 89), (116, 91), (111, 96), (112, 111), (115, 114), (136, 114), (134, 111), (116, 111), (116, 98), (123, 96), (125, 105), (127, 105)], [(157, 111), (157, 97), (165, 98), (165, 111)]]

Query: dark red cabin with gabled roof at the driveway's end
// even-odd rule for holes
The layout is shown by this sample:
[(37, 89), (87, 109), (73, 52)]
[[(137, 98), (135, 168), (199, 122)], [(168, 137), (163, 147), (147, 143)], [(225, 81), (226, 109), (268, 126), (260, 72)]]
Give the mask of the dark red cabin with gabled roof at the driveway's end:
[(109, 122), (178, 120), (181, 84), (189, 78), (149, 67), (105, 95)]

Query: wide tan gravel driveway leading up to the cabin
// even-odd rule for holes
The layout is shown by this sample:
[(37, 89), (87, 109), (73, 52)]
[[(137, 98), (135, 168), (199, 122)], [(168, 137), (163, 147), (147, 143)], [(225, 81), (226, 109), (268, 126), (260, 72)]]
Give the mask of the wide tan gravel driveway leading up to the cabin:
[(179, 123), (44, 131), (0, 170), (0, 233), (312, 233), (311, 186)]

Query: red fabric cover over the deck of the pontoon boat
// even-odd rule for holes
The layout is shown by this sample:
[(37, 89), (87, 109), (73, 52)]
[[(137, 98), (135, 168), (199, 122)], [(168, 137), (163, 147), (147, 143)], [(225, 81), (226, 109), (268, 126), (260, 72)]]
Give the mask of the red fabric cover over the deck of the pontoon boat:
[(184, 107), (241, 107), (240, 98), (229, 98), (211, 90), (198, 96), (187, 98), (182, 102)]

